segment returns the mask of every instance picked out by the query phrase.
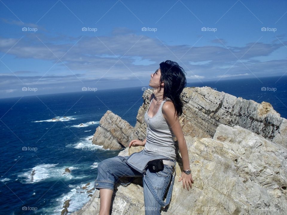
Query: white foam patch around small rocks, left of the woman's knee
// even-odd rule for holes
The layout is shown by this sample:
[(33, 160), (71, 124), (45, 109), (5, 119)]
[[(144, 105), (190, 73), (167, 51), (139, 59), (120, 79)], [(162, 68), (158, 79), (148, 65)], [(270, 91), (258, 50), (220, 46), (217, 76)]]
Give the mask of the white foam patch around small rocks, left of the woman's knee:
[[(20, 178), (25, 178), (23, 183), (36, 183), (46, 179), (82, 179), (87, 176), (74, 176), (73, 170), (78, 167), (58, 167), (58, 164), (41, 164), (29, 169), (28, 171), (18, 175)], [(65, 168), (69, 168), (71, 173), (65, 173)]]

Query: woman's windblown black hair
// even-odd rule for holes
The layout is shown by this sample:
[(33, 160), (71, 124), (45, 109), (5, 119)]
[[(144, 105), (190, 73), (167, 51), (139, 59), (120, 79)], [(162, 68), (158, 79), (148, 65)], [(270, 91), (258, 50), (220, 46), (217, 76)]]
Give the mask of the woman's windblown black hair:
[[(174, 106), (178, 116), (182, 114), (183, 101), (181, 92), (186, 86), (185, 72), (177, 62), (167, 60), (159, 64), (161, 69), (160, 83), (164, 82), (163, 99), (169, 98)], [(161, 90), (162, 86), (160, 84)]]

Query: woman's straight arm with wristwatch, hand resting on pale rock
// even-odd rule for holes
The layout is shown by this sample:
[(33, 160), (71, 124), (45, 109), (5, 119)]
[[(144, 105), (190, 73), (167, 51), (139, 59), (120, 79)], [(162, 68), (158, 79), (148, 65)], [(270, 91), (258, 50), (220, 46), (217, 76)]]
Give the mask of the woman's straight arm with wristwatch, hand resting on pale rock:
[[(178, 141), (178, 148), (181, 154), (183, 170), (190, 170), (186, 141), (184, 139), (184, 134), (182, 132), (182, 128), (181, 128), (178, 116), (174, 114), (175, 108), (174, 108), (173, 103), (168, 102), (168, 101), (165, 102), (162, 106), (162, 113), (163, 113), (164, 118), (169, 123), (172, 129), (172, 132), (174, 133)], [(187, 175), (184, 172), (182, 172), (179, 182), (181, 180), (182, 180), (183, 188), (185, 188), (185, 185), (186, 185), (187, 190), (189, 190), (189, 187), (191, 188), (192, 184), (194, 183), (191, 173)]]

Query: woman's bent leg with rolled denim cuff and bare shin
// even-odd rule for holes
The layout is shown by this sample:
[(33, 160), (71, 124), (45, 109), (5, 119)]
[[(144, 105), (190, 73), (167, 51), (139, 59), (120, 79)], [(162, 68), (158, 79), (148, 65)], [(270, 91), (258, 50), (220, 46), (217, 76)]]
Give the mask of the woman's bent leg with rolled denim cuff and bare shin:
[(128, 156), (115, 156), (103, 160), (97, 167), (98, 176), (94, 188), (100, 190), (100, 215), (109, 214), (114, 185), (122, 176), (141, 177), (142, 173), (126, 164)]

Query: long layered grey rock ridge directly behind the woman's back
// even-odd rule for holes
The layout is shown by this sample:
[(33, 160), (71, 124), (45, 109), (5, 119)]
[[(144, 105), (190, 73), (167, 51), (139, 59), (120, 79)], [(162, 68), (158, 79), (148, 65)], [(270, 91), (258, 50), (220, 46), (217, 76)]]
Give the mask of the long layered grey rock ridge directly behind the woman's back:
[[(146, 138), (144, 114), (151, 93), (151, 89), (144, 91), (144, 104), (138, 110), (134, 130), (139, 139)], [(287, 120), (268, 102), (259, 104), (210, 87), (185, 87), (181, 96), (184, 107), (179, 121), (186, 136), (208, 138), (220, 124), (238, 125), (287, 148)]]

